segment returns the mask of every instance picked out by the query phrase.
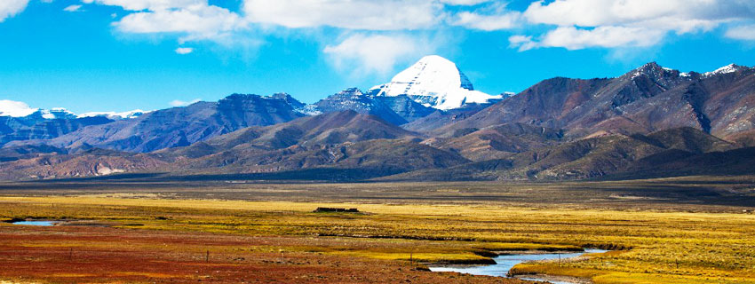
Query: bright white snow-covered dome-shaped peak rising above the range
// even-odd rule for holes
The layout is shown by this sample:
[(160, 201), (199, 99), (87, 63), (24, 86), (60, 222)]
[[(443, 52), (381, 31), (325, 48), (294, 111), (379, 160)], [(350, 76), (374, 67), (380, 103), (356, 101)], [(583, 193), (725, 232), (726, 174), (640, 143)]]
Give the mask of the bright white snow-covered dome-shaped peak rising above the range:
[(503, 99), (474, 91), (456, 64), (437, 55), (425, 56), (395, 75), (390, 83), (375, 86), (368, 93), (387, 97), (407, 95), (420, 104), (442, 110)]

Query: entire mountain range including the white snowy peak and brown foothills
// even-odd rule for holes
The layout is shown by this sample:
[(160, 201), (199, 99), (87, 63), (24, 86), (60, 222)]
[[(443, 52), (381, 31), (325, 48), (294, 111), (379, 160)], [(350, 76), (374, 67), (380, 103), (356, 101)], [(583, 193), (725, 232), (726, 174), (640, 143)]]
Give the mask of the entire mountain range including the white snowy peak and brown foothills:
[(0, 143), (6, 180), (751, 174), (755, 68), (682, 73), (648, 63), (616, 78), (557, 77), (488, 95), (453, 62), (428, 56), (390, 83), (311, 105), (284, 93), (233, 94), (125, 116), (0, 115)]

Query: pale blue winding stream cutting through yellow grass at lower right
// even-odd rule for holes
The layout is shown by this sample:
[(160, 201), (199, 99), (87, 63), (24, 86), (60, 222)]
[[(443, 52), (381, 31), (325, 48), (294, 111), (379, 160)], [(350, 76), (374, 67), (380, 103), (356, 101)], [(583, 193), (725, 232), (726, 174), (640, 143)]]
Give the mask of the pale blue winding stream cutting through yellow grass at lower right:
[[(585, 249), (583, 252), (565, 253), (565, 254), (520, 254), (520, 255), (502, 255), (493, 258), (496, 264), (480, 265), (480, 266), (440, 266), (430, 267), (432, 272), (459, 272), (473, 275), (486, 275), (486, 276), (499, 276), (507, 277), (509, 270), (516, 264), (526, 263), (529, 261), (537, 260), (553, 260), (553, 259), (566, 259), (576, 256), (583, 256), (584, 254), (591, 253), (603, 253), (608, 250), (603, 249)], [(521, 278), (523, 280), (535, 280), (535, 281), (548, 281), (553, 284), (573, 284), (574, 282), (565, 281), (553, 281), (538, 278)]]

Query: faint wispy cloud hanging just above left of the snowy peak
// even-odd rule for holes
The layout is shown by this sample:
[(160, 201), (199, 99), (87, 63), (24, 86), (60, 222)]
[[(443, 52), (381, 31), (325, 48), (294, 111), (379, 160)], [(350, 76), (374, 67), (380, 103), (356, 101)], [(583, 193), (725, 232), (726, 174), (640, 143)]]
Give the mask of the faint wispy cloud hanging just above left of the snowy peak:
[(338, 45), (326, 46), (324, 52), (339, 69), (354, 70), (362, 75), (386, 75), (400, 62), (434, 53), (433, 45), (417, 36), (356, 34)]

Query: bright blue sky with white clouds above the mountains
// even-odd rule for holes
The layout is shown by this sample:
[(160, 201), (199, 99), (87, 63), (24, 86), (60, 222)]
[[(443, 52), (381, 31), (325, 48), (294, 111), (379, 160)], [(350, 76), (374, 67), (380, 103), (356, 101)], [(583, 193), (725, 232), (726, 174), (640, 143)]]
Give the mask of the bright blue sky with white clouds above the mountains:
[[(596, 13), (597, 11), (597, 13)], [(4, 0), (0, 99), (76, 113), (285, 91), (314, 102), (427, 54), (478, 90), (657, 61), (755, 65), (746, 0)]]

